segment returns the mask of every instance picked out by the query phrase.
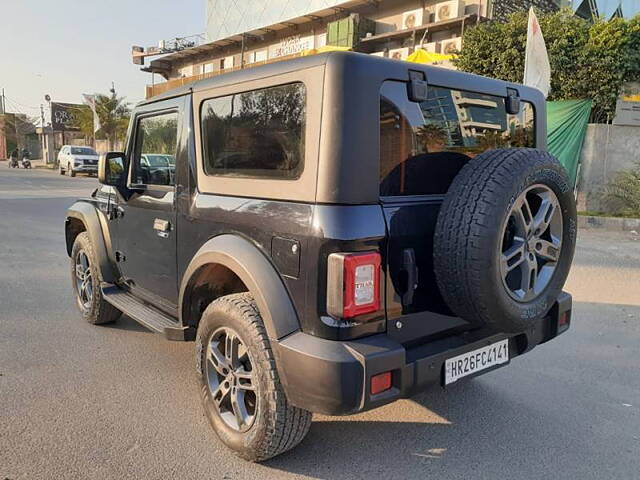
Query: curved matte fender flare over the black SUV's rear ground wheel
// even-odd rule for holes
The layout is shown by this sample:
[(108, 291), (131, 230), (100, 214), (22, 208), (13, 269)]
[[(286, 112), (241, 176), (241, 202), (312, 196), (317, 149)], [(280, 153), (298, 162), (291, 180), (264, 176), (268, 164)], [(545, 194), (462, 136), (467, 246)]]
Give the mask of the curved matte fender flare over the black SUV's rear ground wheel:
[[(183, 322), (184, 299), (194, 273), (207, 264), (221, 264), (242, 280), (258, 305), (270, 340), (300, 330), (298, 315), (282, 278), (269, 259), (248, 240), (223, 234), (205, 242), (185, 270), (180, 285), (180, 321)], [(184, 325), (184, 323), (182, 323)]]

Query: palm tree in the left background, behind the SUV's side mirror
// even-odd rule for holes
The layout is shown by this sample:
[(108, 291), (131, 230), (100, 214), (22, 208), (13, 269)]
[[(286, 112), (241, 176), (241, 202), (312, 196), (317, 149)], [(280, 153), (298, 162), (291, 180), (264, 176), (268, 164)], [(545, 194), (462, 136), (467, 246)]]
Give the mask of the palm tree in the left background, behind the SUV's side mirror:
[[(107, 139), (111, 148), (119, 140), (124, 140), (129, 127), (130, 109), (124, 97), (118, 97), (115, 90), (109, 95), (96, 95), (96, 112), (100, 119), (100, 130), (95, 138)], [(83, 108), (76, 115), (75, 126), (87, 137), (94, 136), (93, 112), (90, 108)]]

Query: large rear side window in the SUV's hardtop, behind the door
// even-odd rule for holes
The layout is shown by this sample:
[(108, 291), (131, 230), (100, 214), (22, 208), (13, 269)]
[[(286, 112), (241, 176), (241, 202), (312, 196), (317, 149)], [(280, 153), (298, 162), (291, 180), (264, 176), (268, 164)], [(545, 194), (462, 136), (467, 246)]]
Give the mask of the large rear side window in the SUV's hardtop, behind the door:
[(207, 175), (300, 177), (306, 120), (302, 83), (207, 100), (201, 115)]

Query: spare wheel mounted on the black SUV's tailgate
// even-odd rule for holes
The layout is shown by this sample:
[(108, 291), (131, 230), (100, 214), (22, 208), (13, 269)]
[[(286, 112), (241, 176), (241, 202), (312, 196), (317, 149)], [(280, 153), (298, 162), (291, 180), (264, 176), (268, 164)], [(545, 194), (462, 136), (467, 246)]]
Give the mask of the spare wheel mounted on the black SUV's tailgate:
[(562, 290), (576, 226), (571, 183), (552, 155), (517, 148), (478, 155), (438, 214), (434, 270), (442, 296), (477, 326), (526, 329)]

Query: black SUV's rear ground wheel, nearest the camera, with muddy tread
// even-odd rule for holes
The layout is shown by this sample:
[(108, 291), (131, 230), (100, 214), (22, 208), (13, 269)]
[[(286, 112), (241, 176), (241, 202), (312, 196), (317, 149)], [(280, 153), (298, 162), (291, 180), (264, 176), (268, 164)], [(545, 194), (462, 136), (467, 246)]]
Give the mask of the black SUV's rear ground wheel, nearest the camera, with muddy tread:
[(196, 366), (205, 413), (220, 440), (238, 456), (267, 460), (306, 436), (311, 412), (289, 404), (249, 293), (221, 297), (204, 311)]

